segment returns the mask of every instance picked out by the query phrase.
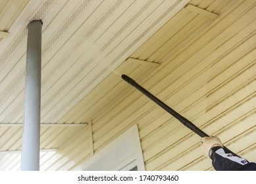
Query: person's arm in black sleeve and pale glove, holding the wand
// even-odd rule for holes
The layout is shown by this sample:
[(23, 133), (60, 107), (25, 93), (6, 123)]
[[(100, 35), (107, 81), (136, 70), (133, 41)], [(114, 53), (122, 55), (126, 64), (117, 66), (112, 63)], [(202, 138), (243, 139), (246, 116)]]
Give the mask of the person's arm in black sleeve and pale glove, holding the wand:
[(255, 171), (256, 163), (248, 162), (233, 155), (223, 148), (218, 137), (203, 137), (203, 152), (205, 156), (209, 156), (213, 163), (213, 168), (217, 171)]

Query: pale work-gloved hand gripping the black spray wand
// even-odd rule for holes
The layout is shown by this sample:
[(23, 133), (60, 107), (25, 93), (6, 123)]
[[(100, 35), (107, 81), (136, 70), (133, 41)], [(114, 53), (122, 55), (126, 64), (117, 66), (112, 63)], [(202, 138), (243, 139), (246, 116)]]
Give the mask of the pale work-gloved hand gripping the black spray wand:
[(203, 153), (209, 157), (209, 150), (213, 147), (223, 147), (218, 137), (202, 137), (201, 143), (203, 143)]

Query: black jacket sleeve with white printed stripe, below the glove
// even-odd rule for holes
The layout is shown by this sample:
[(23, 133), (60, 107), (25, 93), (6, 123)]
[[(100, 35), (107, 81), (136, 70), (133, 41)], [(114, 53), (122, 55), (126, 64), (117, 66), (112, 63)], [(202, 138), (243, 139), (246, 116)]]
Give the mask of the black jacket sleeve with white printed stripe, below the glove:
[(230, 154), (222, 147), (213, 147), (211, 159), (217, 171), (256, 171), (256, 162), (248, 162), (237, 155)]

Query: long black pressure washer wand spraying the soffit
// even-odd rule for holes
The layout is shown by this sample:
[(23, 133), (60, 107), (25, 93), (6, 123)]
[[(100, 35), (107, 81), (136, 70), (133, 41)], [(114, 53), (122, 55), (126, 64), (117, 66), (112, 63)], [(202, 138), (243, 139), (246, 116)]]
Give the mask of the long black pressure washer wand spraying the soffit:
[[(190, 122), (190, 120), (184, 118), (183, 116), (181, 116), (180, 114), (178, 114), (178, 112), (176, 112), (175, 110), (173, 110), (172, 108), (170, 108), (168, 105), (166, 105), (165, 103), (163, 103), (161, 100), (159, 100), (157, 97), (155, 97), (154, 95), (152, 95), (151, 93), (149, 93), (149, 91), (147, 91), (146, 89), (144, 89), (143, 87), (141, 87), (141, 85), (139, 85), (138, 83), (136, 83), (136, 81), (132, 80), (130, 77), (126, 76), (126, 75), (122, 75), (122, 79), (127, 81), (128, 83), (130, 83), (130, 85), (134, 86), (136, 89), (138, 89), (139, 91), (141, 91), (141, 93), (143, 93), (144, 95), (146, 95), (147, 97), (149, 97), (149, 99), (151, 99), (152, 101), (154, 101), (155, 103), (157, 103), (159, 106), (161, 106), (163, 109), (165, 109), (168, 113), (170, 113), (172, 116), (174, 116), (174, 118), (176, 118), (177, 120), (179, 120), (182, 124), (184, 124), (184, 126), (188, 127), (189, 129), (191, 129), (193, 132), (197, 133), (197, 135), (199, 135), (200, 137), (209, 137), (209, 135), (207, 135), (207, 133), (203, 132), (201, 129), (199, 129), (197, 126), (195, 126), (192, 122)], [(225, 147), (226, 150), (228, 150)], [(234, 152), (232, 152), (231, 150), (228, 150), (230, 153), (234, 154)], [(236, 155), (236, 154), (234, 154)]]

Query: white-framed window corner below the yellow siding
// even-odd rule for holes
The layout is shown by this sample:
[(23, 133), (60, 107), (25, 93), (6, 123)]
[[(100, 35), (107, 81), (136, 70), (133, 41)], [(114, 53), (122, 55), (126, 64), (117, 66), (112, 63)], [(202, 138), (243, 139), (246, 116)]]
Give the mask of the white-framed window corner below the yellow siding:
[(81, 170), (145, 171), (138, 126), (135, 124), (82, 164)]

